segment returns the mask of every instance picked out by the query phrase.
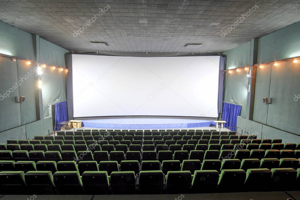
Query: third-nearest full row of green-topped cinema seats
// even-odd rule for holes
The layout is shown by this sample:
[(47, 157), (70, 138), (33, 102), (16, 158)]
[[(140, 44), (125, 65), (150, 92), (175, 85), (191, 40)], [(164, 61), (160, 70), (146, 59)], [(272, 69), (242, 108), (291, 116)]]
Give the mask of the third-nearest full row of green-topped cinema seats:
[(299, 158), (300, 150), (192, 150), (188, 151), (0, 151), (0, 160), (14, 161), (118, 161), (137, 160), (224, 160)]

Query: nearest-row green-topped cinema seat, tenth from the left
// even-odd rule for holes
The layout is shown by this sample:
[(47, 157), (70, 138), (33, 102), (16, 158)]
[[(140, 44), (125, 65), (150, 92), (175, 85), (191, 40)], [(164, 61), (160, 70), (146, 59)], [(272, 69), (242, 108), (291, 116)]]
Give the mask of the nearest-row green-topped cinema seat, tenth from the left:
[(244, 183), (245, 191), (262, 192), (271, 190), (271, 176), (270, 169), (247, 169)]

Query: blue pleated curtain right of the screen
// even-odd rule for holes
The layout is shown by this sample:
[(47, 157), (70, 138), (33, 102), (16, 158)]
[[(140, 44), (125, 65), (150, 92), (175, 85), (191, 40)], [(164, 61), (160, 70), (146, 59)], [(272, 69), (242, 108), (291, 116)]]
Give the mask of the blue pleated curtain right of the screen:
[[(236, 120), (241, 114), (241, 108), (242, 106), (240, 105), (224, 102), (222, 120), (227, 122), (224, 123), (224, 127), (236, 127)], [(236, 131), (236, 128), (229, 129), (232, 131)]]

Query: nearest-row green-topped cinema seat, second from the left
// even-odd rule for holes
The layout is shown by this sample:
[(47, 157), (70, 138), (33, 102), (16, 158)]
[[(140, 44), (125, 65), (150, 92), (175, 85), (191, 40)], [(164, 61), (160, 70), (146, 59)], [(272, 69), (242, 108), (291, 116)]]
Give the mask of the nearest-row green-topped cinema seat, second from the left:
[(30, 194), (56, 194), (53, 176), (50, 171), (29, 171), (25, 174), (25, 181)]

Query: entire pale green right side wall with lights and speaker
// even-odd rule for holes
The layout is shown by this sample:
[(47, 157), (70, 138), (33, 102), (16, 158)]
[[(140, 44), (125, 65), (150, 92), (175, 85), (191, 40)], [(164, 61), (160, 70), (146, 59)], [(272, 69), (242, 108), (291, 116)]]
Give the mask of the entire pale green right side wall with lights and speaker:
[[(227, 56), (226, 69), (232, 69), (232, 64), (236, 67), (252, 65), (251, 58), (256, 55), (257, 63), (300, 56), (300, 22), (258, 38), (256, 49), (255, 46), (253, 48), (252, 42), (253, 40), (250, 44), (248, 42), (224, 52)], [(243, 133), (256, 133), (258, 138), (280, 138), (283, 142), (300, 142), (300, 101), (294, 100), (295, 95), (300, 94), (300, 62), (285, 61), (280, 62), (278, 66), (266, 64), (262, 68), (253, 68), (256, 68), (256, 73), (252, 74), (251, 79), (255, 85), (252, 85), (249, 79), (250, 87), (254, 88), (252, 93), (243, 93), (243, 84), (241, 88), (236, 86), (238, 82), (243, 83), (243, 70), (233, 70), (230, 74), (224, 74), (224, 101), (242, 104), (237, 126)], [(246, 82), (244, 78), (245, 85)], [(253, 97), (253, 101), (250, 97)], [(262, 97), (272, 98), (272, 103), (262, 103)], [(253, 118), (250, 115), (251, 110), (248, 109), (252, 103)], [(241, 133), (241, 130), (238, 129), (238, 132)]]

